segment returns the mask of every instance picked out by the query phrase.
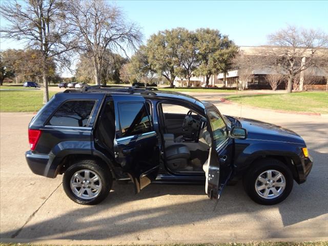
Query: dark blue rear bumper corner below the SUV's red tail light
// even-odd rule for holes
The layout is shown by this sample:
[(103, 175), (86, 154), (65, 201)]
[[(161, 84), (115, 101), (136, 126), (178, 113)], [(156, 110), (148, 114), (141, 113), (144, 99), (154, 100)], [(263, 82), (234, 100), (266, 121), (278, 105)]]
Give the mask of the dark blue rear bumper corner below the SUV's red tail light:
[(33, 173), (49, 178), (54, 178), (56, 176), (56, 170), (51, 169), (49, 155), (35, 154), (29, 150), (25, 153), (25, 158)]

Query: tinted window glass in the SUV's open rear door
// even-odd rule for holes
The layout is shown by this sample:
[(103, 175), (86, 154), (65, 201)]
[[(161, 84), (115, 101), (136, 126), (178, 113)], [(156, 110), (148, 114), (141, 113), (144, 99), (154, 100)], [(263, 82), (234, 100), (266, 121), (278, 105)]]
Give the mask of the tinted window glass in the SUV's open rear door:
[(151, 131), (151, 119), (144, 103), (118, 104), (121, 137)]

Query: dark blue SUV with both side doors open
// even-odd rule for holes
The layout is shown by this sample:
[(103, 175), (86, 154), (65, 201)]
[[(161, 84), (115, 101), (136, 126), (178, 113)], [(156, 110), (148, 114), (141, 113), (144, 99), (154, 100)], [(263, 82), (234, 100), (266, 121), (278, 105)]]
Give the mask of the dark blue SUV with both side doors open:
[(135, 193), (152, 182), (198, 183), (218, 199), (242, 178), (260, 204), (275, 204), (312, 168), (295, 132), (221, 115), (194, 97), (137, 88), (86, 87), (57, 93), (29, 125), (26, 159), (38, 175), (64, 174), (66, 194), (96, 204), (113, 180), (131, 180)]

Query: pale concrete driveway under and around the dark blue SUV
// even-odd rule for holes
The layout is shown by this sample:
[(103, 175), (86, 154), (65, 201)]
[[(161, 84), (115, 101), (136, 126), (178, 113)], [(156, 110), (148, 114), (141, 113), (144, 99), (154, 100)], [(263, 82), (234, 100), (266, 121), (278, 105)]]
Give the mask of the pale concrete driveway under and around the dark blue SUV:
[(48, 179), (29, 170), (24, 152), (33, 114), (1, 113), (1, 240), (118, 244), (327, 239), (328, 117), (223, 104), (216, 95), (198, 97), (216, 103), (223, 114), (269, 121), (299, 133), (315, 161), (308, 181), (295, 183), (285, 201), (270, 207), (249, 199), (241, 182), (224, 189), (216, 208), (202, 186), (150, 185), (134, 195), (131, 184), (117, 183), (103, 203), (80, 206), (66, 197), (61, 176)]

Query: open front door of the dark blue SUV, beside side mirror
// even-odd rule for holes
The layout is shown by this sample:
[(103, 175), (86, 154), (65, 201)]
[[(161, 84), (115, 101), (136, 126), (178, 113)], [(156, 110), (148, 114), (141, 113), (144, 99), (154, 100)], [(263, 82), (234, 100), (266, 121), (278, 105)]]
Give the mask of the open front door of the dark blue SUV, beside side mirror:
[[(219, 199), (232, 173), (233, 139), (223, 117), (216, 108), (207, 110), (208, 130), (211, 130), (212, 146), (209, 159), (204, 165), (205, 192), (211, 199)], [(209, 129), (211, 128), (211, 129)]]

